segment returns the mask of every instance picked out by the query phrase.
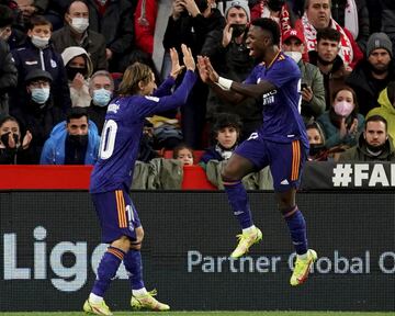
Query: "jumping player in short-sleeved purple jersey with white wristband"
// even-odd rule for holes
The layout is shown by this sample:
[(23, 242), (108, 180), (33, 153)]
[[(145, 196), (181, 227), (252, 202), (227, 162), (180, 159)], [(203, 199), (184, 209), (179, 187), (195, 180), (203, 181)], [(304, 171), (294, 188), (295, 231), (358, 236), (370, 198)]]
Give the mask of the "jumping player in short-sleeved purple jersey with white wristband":
[(291, 285), (302, 284), (317, 259), (308, 249), (306, 223), (295, 203), (303, 166), (308, 153), (308, 139), (300, 115), (301, 71), (297, 65), (279, 48), (280, 29), (271, 19), (252, 21), (247, 45), (258, 64), (244, 83), (222, 78), (207, 57), (199, 56), (202, 80), (223, 98), (234, 103), (246, 97), (262, 100), (263, 124), (236, 148), (222, 171), (222, 179), (234, 215), (242, 234), (232, 258), (244, 256), (262, 239), (261, 230), (253, 225), (246, 189), (241, 179), (250, 172), (270, 166), (275, 196), (297, 257)]

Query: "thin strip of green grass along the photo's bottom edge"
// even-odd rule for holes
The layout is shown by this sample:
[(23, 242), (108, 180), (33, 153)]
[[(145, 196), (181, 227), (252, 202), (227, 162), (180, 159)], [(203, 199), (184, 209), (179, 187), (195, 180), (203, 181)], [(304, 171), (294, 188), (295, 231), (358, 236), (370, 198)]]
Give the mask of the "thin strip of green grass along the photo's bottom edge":
[[(149, 313), (149, 312), (113, 312), (114, 316), (390, 316), (388, 313), (370, 313), (370, 312), (169, 312), (169, 313)], [(0, 316), (77, 316), (87, 315), (83, 312), (18, 312), (1, 313)]]

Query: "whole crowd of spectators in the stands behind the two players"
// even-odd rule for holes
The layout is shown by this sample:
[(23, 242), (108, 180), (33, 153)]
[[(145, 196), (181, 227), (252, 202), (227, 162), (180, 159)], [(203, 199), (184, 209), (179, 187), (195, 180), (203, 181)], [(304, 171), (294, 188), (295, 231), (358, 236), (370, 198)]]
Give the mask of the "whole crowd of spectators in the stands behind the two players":
[[(159, 86), (174, 47), (242, 81), (249, 23), (270, 18), (298, 65), (309, 160), (395, 160), (395, 2), (390, 0), (1, 0), (0, 163), (93, 165), (127, 66)], [(165, 19), (163, 19), (165, 16)], [(160, 18), (160, 19), (159, 19)], [(162, 23), (165, 22), (165, 23)], [(157, 47), (156, 45), (160, 45)], [(159, 58), (155, 52), (163, 52)], [(178, 84), (182, 76), (178, 78)], [(262, 124), (262, 99), (224, 100), (198, 80), (187, 104), (146, 119), (138, 160), (227, 160)], [(193, 154), (195, 157), (193, 157)], [(208, 165), (207, 165), (208, 163)], [(208, 168), (211, 169), (211, 168)]]

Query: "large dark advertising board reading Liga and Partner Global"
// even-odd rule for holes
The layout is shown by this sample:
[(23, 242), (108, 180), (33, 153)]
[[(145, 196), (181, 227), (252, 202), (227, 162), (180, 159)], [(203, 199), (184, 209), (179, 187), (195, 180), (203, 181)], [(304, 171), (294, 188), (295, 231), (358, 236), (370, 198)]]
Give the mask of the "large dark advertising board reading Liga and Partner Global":
[[(272, 193), (250, 192), (261, 244), (240, 260), (224, 192), (132, 192), (145, 228), (146, 287), (176, 311), (395, 311), (395, 196), (300, 193), (319, 259), (289, 284), (293, 248)], [(87, 192), (0, 193), (0, 311), (80, 311), (105, 250)], [(128, 308), (123, 267), (105, 297)]]

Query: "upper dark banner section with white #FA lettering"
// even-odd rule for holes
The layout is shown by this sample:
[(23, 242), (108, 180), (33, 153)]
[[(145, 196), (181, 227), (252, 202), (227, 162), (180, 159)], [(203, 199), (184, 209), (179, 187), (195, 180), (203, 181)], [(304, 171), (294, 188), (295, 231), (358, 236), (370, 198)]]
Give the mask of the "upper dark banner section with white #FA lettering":
[(306, 163), (301, 189), (315, 190), (395, 190), (395, 163), (309, 161)]

